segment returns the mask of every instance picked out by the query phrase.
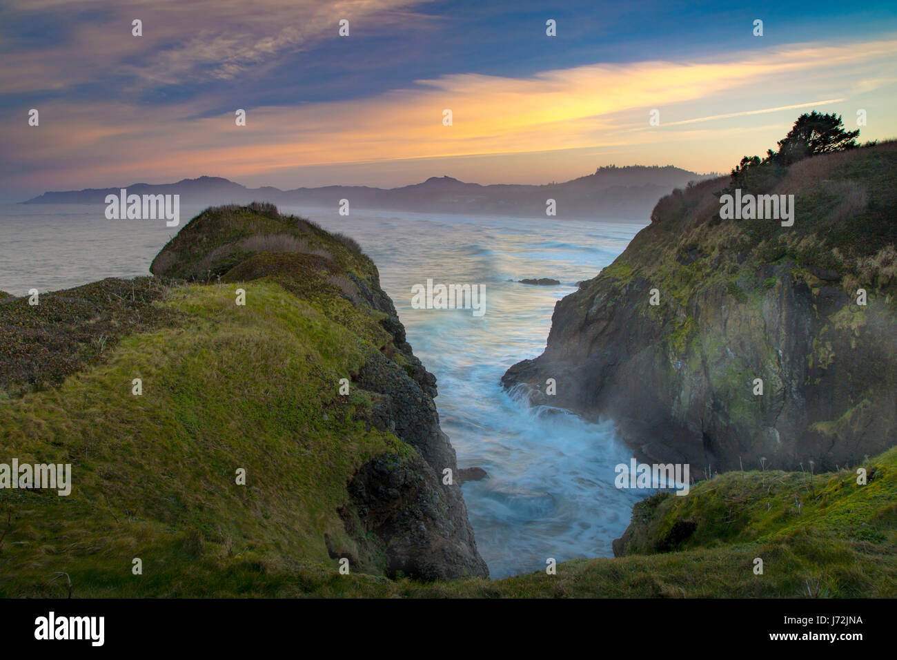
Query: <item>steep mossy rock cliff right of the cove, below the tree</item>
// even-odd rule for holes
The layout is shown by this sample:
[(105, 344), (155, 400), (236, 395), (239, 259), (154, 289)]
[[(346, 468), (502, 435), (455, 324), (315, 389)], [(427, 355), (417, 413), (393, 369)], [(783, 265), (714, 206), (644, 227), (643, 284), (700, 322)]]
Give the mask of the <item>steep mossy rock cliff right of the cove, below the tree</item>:
[(728, 178), (676, 190), (556, 305), (544, 354), (502, 382), (613, 418), (641, 460), (689, 462), (697, 477), (835, 470), (884, 451), (897, 427), (895, 172), (890, 142), (743, 190), (794, 195), (791, 226), (722, 219)]

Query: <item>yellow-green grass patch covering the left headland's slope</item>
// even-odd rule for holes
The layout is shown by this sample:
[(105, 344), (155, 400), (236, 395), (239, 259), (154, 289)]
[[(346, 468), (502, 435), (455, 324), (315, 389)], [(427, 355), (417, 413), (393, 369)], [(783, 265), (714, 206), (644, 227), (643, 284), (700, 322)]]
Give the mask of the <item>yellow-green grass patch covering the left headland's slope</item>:
[(133, 557), (182, 566), (190, 530), (213, 555), (330, 565), (325, 534), (358, 553), (337, 512), (347, 481), (374, 456), (414, 454), (356, 420), (370, 405), (361, 392), (338, 396), (376, 348), (281, 286), (243, 286), (246, 307), (231, 286), (176, 288), (162, 305), (179, 328), (127, 337), (57, 389), (0, 402), (4, 453), (74, 464), (69, 497), (0, 491), (13, 515), (0, 594), (53, 593), (44, 576), (56, 570), (109, 573), (82, 577), (91, 594), (145, 589), (112, 576), (130, 577)]

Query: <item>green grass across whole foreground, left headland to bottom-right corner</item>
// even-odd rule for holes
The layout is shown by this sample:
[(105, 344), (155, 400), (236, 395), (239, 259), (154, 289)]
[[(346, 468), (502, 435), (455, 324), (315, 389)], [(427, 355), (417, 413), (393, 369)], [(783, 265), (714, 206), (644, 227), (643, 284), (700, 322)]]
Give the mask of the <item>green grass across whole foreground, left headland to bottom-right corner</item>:
[[(375, 272), (317, 231), (340, 268)], [(244, 273), (311, 263), (254, 259)], [(0, 490), (0, 595), (64, 597), (55, 571), (76, 597), (897, 594), (897, 450), (867, 465), (866, 487), (848, 472), (737, 472), (651, 498), (634, 511), (635, 554), (566, 562), (556, 576), (426, 585), (390, 581), (376, 562), (339, 575), (323, 539), (353, 548), (337, 513), (346, 481), (372, 456), (413, 450), (354, 421), (363, 392), (337, 396), (337, 379), (388, 336), (311, 265), (306, 277), (278, 267), (243, 284), (166, 288), (152, 303), (164, 324), (118, 338), (57, 386), (0, 398), (0, 461), (74, 464), (69, 497)], [(238, 286), (246, 307), (234, 304)]]

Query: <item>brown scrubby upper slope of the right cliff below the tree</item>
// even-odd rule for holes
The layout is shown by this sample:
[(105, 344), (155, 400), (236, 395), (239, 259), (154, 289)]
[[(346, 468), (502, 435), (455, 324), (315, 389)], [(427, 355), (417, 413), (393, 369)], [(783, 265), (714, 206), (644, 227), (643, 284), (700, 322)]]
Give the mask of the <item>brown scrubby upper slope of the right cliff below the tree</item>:
[[(768, 220), (720, 221), (718, 193), (727, 185), (728, 177), (708, 180), (661, 199), (654, 212), (660, 222), (637, 235), (592, 282), (611, 279), (622, 286), (644, 277), (685, 304), (723, 281), (739, 302), (751, 303), (752, 292), (775, 286), (755, 281), (757, 264), (791, 263), (793, 277), (805, 279), (814, 292), (823, 281), (807, 268), (831, 268), (840, 276), (835, 286), (851, 297), (864, 286), (897, 309), (897, 141), (808, 158), (745, 189), (794, 193), (796, 219), (788, 228)], [(690, 252), (692, 262), (684, 264)], [(753, 256), (739, 260), (739, 252)], [(681, 351), (698, 330), (683, 324), (671, 347)]]

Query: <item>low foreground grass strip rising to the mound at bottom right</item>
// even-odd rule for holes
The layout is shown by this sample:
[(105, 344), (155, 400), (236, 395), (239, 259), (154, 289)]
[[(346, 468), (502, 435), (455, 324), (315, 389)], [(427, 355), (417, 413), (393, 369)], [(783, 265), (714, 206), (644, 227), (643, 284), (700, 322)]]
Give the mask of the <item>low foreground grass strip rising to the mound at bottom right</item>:
[[(897, 448), (865, 469), (865, 486), (855, 471), (751, 471), (702, 481), (687, 497), (658, 494), (633, 510), (632, 554), (564, 562), (556, 576), (440, 585), (314, 573), (304, 579), (317, 595), (894, 597)], [(753, 573), (758, 557), (762, 575)]]

